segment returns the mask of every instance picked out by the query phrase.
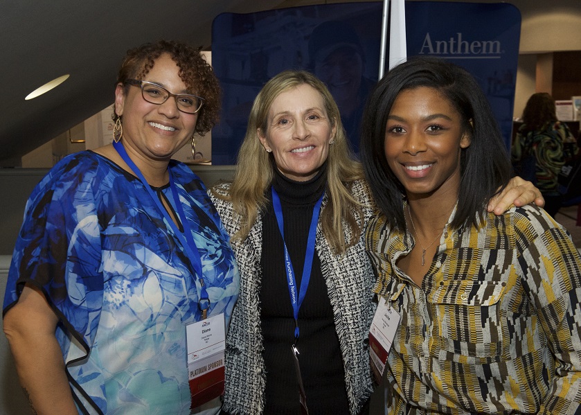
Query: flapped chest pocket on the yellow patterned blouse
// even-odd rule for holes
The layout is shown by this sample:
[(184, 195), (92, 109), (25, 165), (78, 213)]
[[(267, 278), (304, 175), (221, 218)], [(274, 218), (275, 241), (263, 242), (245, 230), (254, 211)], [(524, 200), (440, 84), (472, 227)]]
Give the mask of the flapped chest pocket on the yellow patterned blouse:
[(441, 281), (427, 299), (431, 355), (464, 364), (510, 360), (510, 333), (503, 294), (508, 277)]

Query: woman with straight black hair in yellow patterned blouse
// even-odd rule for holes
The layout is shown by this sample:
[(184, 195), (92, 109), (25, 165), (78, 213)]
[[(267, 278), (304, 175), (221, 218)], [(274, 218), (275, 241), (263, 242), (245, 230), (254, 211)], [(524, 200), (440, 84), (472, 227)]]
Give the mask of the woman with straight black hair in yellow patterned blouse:
[(460, 67), (413, 58), (370, 96), (361, 156), (381, 211), (366, 247), (399, 313), (388, 414), (574, 414), (581, 257), (534, 205), (486, 213), (510, 160)]

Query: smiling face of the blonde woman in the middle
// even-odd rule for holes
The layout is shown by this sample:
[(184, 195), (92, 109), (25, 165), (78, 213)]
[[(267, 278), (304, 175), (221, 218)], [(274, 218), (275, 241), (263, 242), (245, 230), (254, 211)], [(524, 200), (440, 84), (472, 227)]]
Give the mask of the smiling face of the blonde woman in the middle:
[(266, 132), (258, 129), (258, 138), (272, 151), (280, 173), (298, 182), (316, 175), (334, 135), (323, 97), (306, 84), (279, 94), (270, 106)]

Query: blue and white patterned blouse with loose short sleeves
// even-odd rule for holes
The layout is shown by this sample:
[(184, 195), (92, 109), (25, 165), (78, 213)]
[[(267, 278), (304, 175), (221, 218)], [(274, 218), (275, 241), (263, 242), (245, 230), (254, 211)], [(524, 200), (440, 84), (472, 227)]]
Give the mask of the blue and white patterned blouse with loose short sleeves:
[[(170, 170), (202, 258), (208, 315), (227, 322), (239, 285), (228, 236), (199, 178), (176, 161)], [(175, 209), (169, 186), (154, 191)], [(42, 288), (82, 413), (189, 414), (185, 326), (201, 319), (193, 270), (143, 184), (80, 152), (28, 200), (4, 312), (24, 283)]]

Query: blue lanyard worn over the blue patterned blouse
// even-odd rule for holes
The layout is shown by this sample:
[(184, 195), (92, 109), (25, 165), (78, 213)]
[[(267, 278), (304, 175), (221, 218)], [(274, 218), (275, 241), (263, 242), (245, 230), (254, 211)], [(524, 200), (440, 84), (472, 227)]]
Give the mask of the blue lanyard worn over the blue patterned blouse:
[[(170, 213), (168, 213), (168, 210), (163, 206), (161, 200), (159, 200), (159, 197), (157, 197), (157, 195), (155, 195), (155, 193), (152, 191), (151, 186), (148, 184), (147, 180), (145, 180), (145, 177), (143, 177), (141, 170), (139, 170), (139, 168), (135, 165), (133, 160), (129, 157), (127, 151), (125, 151), (125, 147), (123, 147), (123, 144), (113, 142), (113, 146), (115, 150), (117, 150), (123, 161), (127, 163), (127, 166), (129, 166), (131, 170), (133, 170), (133, 172), (137, 175), (137, 177), (139, 177), (141, 183), (143, 184), (143, 187), (145, 187), (145, 190), (148, 191), (152, 200), (157, 205), (157, 209), (159, 209), (159, 211), (163, 215), (163, 218), (166, 218), (166, 222), (168, 222), (168, 224), (173, 230), (174, 235), (176, 236), (176, 238), (179, 239), (179, 242), (181, 242), (181, 246), (184, 247), (186, 254), (188, 254), (190, 262), (194, 267), (194, 271), (198, 276), (197, 281), (199, 281), (199, 287), (197, 287), (199, 292), (198, 307), (202, 311), (202, 318), (206, 319), (207, 312), (210, 308), (210, 299), (208, 297), (208, 292), (206, 292), (206, 283), (204, 283), (204, 277), (202, 274), (202, 258), (200, 258), (199, 256), (199, 251), (197, 250), (196, 243), (192, 236), (192, 230), (190, 229), (190, 225), (188, 224), (186, 214), (184, 213), (184, 207), (181, 206), (181, 202), (179, 201), (179, 195), (177, 193), (177, 187), (175, 185), (175, 180), (173, 178), (172, 171), (168, 167), (168, 173), (170, 173), (170, 189), (172, 191), (172, 197), (174, 199), (175, 208), (177, 210), (177, 216), (179, 218), (179, 221), (181, 222), (181, 225), (184, 227), (184, 233), (181, 233), (179, 231), (179, 228), (171, 218)], [(195, 215), (195, 212), (193, 212), (193, 215)]]

